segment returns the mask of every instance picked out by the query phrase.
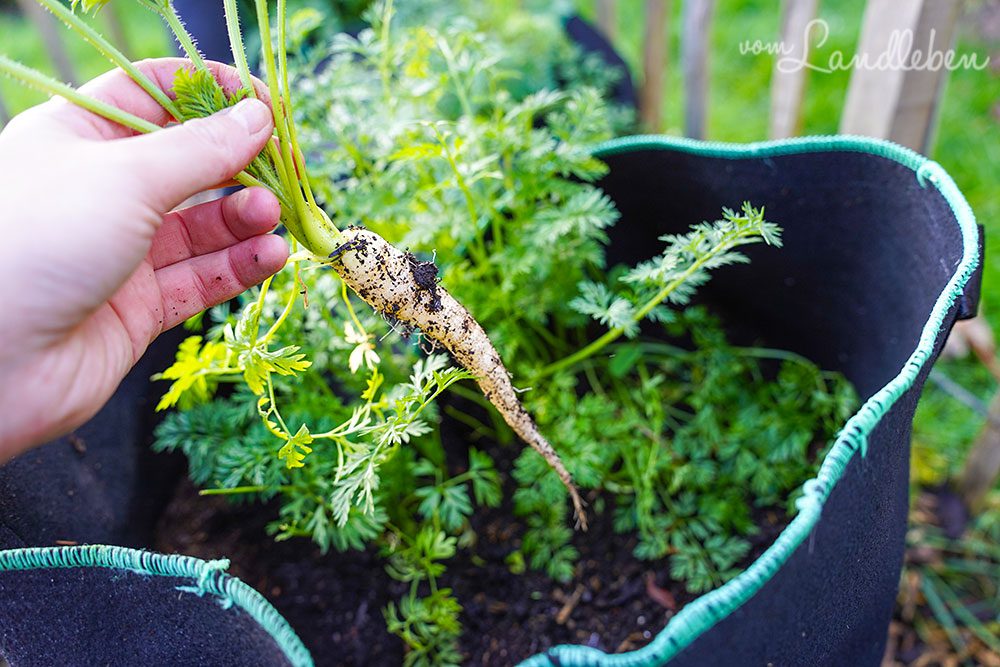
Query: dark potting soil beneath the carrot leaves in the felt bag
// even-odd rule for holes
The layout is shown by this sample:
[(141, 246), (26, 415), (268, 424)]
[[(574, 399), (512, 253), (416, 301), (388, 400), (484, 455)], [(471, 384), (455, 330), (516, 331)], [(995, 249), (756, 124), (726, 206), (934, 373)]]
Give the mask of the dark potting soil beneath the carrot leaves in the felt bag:
[[(273, 506), (199, 496), (185, 480), (160, 520), (155, 548), (229, 558), (229, 573), (274, 604), (317, 665), (400, 665), (403, 643), (386, 630), (382, 609), (408, 585), (385, 573), (374, 548), (323, 555), (305, 539), (275, 542), (265, 531), (275, 515)], [(761, 530), (744, 565), (786, 522), (769, 510), (757, 519)], [(696, 597), (670, 579), (667, 561), (636, 559), (634, 538), (613, 532), (610, 511), (592, 510), (590, 530), (574, 537), (580, 560), (568, 584), (533, 571), (511, 573), (505, 558), (523, 527), (509, 509), (478, 513), (474, 528), (478, 542), (448, 562), (440, 581), (464, 608), (464, 664), (511, 665), (565, 643), (634, 650)]]

